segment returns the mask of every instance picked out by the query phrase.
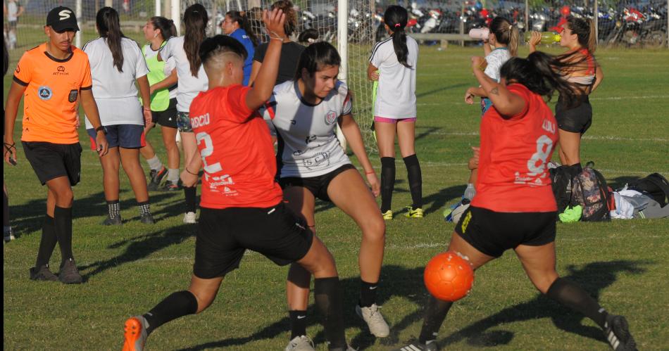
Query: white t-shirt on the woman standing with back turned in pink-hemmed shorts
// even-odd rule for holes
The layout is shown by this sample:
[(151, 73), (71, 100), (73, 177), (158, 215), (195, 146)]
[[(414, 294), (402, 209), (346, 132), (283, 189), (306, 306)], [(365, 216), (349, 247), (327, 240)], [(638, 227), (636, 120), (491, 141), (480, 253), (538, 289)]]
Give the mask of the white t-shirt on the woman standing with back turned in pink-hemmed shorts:
[(369, 62), (379, 69), (379, 87), (374, 101), (374, 115), (384, 118), (413, 118), (415, 108), (415, 69), (418, 65), (418, 43), (406, 37), (406, 68), (399, 63), (392, 38), (378, 42)]

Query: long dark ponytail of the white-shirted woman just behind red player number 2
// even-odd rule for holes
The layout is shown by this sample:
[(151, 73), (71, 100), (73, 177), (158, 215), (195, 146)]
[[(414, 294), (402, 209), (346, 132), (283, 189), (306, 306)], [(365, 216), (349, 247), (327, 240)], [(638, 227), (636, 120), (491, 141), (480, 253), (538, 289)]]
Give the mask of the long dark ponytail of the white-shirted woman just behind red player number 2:
[(202, 64), (198, 51), (200, 44), (206, 38), (206, 27), (209, 17), (207, 11), (201, 4), (192, 4), (184, 12), (184, 25), (186, 27), (184, 34), (184, 51), (190, 64), (190, 72), (193, 77), (197, 77), (197, 72)]

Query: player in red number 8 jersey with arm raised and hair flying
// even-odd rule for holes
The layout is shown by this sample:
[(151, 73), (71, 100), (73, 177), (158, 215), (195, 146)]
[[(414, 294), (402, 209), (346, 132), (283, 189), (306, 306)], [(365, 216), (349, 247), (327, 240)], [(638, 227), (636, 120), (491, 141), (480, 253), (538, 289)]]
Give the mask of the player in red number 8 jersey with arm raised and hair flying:
[[(557, 205), (546, 164), (558, 130), (542, 96), (557, 90), (567, 102), (578, 98), (559, 72), (568, 63), (539, 51), (526, 59), (511, 58), (502, 66), (497, 83), (480, 70), (481, 62), (482, 58), (472, 58), (472, 70), (492, 108), (481, 122), (477, 193), (451, 236), (449, 250), (477, 269), (513, 248), (539, 291), (601, 326), (614, 350), (635, 350), (625, 317), (608, 314), (555, 270)], [(451, 305), (430, 296), (420, 337), (400, 350), (438, 350), (439, 327)]]

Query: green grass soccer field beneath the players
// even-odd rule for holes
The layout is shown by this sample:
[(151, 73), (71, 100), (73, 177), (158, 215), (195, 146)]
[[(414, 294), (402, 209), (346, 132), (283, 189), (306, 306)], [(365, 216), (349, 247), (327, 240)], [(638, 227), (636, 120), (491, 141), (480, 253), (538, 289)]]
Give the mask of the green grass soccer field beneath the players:
[[(449, 242), (454, 224), (445, 223), (441, 212), (463, 193), (470, 146), (479, 139), (480, 108), (463, 102), (465, 89), (475, 84), (469, 69), (473, 55), (481, 56), (482, 49), (420, 47), (416, 151), (423, 167), (426, 217), (403, 216), (411, 196), (398, 151), (396, 217), (387, 222), (379, 289), (382, 313), (391, 326), (388, 338), (370, 336), (354, 311), (358, 227), (330, 203), (316, 204), (318, 236), (335, 255), (342, 279), (346, 338), (358, 350), (390, 350), (420, 333), (427, 294), (423, 267)], [(526, 55), (521, 48), (520, 56)], [(12, 58), (4, 97), (18, 56)], [(605, 79), (591, 96), (594, 120), (584, 136), (582, 160), (593, 160), (614, 189), (652, 172), (669, 177), (669, 51), (600, 50), (597, 58)], [(161, 144), (158, 134), (149, 135), (154, 146)], [(4, 166), (11, 223), (18, 234), (4, 245), (5, 350), (118, 350), (127, 317), (148, 311), (189, 284), (196, 227), (182, 223), (183, 193), (151, 193), (157, 222), (140, 224), (130, 184), (121, 174), (126, 222), (101, 226), (106, 216), (101, 166), (83, 127), (80, 139), (85, 151), (82, 182), (75, 187), (73, 250), (82, 285), (30, 281), (46, 188), (20, 147), (18, 165)], [(156, 149), (165, 162), (164, 150)], [(378, 155), (372, 159), (379, 170)], [(668, 219), (558, 224), (556, 246), (558, 273), (580, 283), (609, 311), (625, 315), (639, 350), (668, 350)], [(56, 249), (54, 271), (58, 262)], [(240, 269), (225, 277), (211, 307), (158, 328), (147, 350), (283, 350), (289, 338), (286, 275), (287, 267), (247, 253)], [(313, 296), (311, 302), (307, 331), (317, 349), (325, 350)], [(592, 321), (534, 289), (513, 252), (477, 271), (473, 290), (451, 309), (438, 342), (446, 350), (608, 350)]]

